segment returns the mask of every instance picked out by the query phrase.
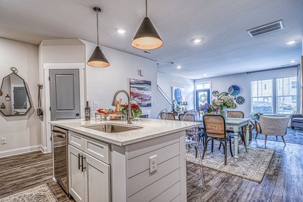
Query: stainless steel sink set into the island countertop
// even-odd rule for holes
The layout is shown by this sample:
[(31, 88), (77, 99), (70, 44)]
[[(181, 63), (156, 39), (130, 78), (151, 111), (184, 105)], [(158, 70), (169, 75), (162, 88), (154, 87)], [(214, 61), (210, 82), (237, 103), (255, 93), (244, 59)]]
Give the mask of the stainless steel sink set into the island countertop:
[(106, 133), (118, 133), (118, 132), (125, 132), (130, 130), (137, 130), (142, 127), (139, 126), (125, 126), (125, 125), (118, 125), (118, 124), (98, 124), (98, 125), (89, 125), (89, 126), (82, 126), (85, 128), (89, 128), (92, 130), (98, 130)]

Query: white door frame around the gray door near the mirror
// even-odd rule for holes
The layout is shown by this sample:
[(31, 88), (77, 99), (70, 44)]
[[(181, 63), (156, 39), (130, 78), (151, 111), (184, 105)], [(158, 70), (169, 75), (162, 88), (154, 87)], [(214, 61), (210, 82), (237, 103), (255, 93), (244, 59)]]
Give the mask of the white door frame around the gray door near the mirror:
[(85, 104), (85, 92), (84, 92), (84, 70), (85, 63), (44, 63), (44, 89), (45, 89), (45, 108), (44, 108), (44, 123), (42, 123), (42, 147), (43, 142), (46, 139), (46, 148), (43, 148), (44, 153), (52, 153), (52, 126), (48, 122), (51, 121), (51, 111), (49, 108), (51, 107), (51, 89), (49, 85), (49, 70), (54, 69), (78, 69), (79, 70), (79, 87), (80, 87), (80, 118), (84, 118), (84, 104)]

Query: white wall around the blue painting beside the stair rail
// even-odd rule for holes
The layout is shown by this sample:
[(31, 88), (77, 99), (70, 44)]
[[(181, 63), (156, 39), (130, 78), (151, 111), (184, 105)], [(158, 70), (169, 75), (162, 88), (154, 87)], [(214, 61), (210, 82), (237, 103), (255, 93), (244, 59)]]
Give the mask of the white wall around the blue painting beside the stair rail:
[[(174, 87), (181, 87), (185, 88), (185, 101), (187, 102), (188, 106), (186, 107), (187, 110), (194, 109), (194, 81), (192, 79), (186, 79), (178, 76), (173, 76), (170, 74), (158, 72), (158, 85), (163, 90), (163, 92), (172, 99), (172, 86)], [(164, 98), (161, 102), (163, 106), (162, 109), (167, 108), (171, 110), (171, 106)]]

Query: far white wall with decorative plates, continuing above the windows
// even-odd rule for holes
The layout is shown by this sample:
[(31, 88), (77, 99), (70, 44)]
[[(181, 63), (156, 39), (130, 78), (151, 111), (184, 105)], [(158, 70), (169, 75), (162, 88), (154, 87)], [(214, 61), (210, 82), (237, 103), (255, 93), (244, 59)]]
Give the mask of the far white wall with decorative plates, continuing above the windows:
[[(242, 111), (245, 117), (250, 116), (250, 81), (256, 80), (265, 80), (272, 78), (282, 78), (282, 77), (293, 77), (296, 76), (296, 67), (278, 69), (278, 70), (270, 70), (263, 72), (255, 72), (255, 73), (242, 73), (242, 74), (234, 74), (228, 76), (220, 76), (206, 79), (198, 79), (195, 80), (195, 83), (204, 82), (204, 81), (212, 81), (211, 90), (218, 90), (221, 92), (228, 92), (228, 88), (231, 85), (237, 85), (240, 87), (240, 93), (237, 96), (242, 96), (245, 98), (245, 103), (242, 105), (237, 105), (234, 111)], [(211, 92), (212, 94), (212, 92)], [(215, 97), (212, 96), (212, 99)]]

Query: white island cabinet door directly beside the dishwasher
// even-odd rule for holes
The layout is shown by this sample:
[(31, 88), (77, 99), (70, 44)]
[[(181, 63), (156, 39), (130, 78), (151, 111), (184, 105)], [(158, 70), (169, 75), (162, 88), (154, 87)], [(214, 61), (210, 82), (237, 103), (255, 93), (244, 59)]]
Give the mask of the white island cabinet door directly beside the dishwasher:
[[(81, 150), (68, 145), (68, 180), (69, 193), (77, 202), (84, 200), (84, 174), (81, 166), (81, 156), (84, 155)], [(80, 156), (80, 158), (79, 158)], [(84, 157), (83, 157), (84, 158)], [(84, 164), (84, 163), (83, 163)]]

